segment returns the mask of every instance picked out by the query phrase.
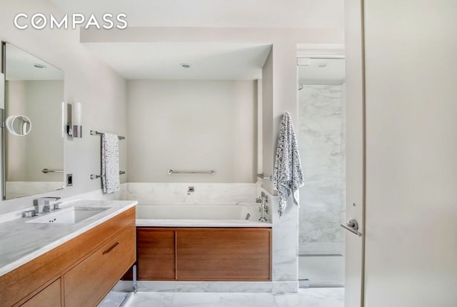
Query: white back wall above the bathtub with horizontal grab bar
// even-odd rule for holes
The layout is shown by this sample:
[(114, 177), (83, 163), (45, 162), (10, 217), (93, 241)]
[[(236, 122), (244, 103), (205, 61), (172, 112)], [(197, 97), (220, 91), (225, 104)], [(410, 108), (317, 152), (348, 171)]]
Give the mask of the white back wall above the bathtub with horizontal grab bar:
[[(129, 182), (255, 182), (256, 87), (256, 81), (128, 81)], [(169, 169), (216, 175), (169, 175)]]

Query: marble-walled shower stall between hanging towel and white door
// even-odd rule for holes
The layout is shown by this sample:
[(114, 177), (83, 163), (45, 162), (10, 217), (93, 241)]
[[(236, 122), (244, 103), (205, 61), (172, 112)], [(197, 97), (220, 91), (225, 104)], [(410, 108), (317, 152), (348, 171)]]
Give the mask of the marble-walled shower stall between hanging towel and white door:
[(298, 66), (300, 189), (298, 278), (301, 287), (344, 286), (344, 59)]

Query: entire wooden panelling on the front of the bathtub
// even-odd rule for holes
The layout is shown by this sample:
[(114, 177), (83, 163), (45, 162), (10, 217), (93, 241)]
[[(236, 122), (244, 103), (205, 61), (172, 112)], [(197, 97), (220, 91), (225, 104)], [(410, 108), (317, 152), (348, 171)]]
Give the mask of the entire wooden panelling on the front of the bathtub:
[(271, 281), (271, 228), (137, 228), (139, 281)]

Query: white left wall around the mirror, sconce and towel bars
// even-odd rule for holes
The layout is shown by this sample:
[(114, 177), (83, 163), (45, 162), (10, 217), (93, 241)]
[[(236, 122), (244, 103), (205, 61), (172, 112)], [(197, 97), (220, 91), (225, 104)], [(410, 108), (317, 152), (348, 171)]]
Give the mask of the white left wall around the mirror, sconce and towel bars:
[[(58, 67), (65, 74), (64, 101), (83, 104), (82, 139), (64, 138), (66, 173), (74, 174), (74, 186), (44, 195), (75, 196), (101, 188), (91, 173), (100, 172), (100, 137), (89, 130), (126, 134), (126, 81), (79, 44), (78, 30), (26, 30), (14, 28), (18, 12), (60, 12), (48, 1), (3, 1), (0, 10), (0, 39), (9, 41), (39, 59)], [(121, 141), (121, 169), (126, 168), (126, 142)], [(125, 181), (121, 176), (121, 181)], [(0, 213), (32, 205), (37, 196), (0, 202)]]

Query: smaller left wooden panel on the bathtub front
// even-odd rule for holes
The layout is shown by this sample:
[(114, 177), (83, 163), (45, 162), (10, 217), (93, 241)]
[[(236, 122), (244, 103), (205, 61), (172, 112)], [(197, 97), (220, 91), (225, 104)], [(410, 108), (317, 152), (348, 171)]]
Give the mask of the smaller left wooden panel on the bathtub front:
[(138, 228), (136, 231), (138, 279), (146, 281), (174, 280), (175, 231)]

